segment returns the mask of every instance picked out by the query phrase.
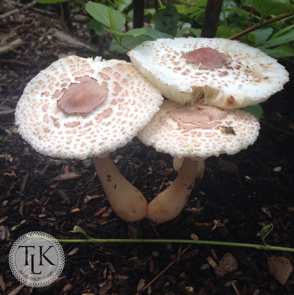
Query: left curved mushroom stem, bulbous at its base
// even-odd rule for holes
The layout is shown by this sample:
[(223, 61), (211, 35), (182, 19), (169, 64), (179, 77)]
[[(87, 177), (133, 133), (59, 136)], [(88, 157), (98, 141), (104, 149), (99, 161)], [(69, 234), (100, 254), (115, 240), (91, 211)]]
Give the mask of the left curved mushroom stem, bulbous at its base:
[(118, 217), (126, 222), (144, 219), (147, 212), (146, 199), (123, 177), (110, 156), (93, 158), (93, 161), (107, 199)]

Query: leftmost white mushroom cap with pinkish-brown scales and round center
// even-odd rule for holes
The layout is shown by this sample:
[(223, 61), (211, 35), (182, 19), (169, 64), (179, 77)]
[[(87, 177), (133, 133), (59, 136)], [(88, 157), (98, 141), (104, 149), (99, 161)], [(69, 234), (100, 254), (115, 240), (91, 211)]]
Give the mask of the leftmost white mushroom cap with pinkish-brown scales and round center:
[(15, 124), (41, 154), (103, 157), (136, 136), (162, 99), (131, 63), (69, 56), (28, 83)]

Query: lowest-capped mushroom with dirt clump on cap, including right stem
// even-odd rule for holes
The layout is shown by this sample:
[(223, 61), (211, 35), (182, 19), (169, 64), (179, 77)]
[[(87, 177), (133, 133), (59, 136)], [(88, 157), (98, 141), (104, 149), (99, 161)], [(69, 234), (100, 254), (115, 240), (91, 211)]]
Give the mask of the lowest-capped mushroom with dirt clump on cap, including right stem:
[(160, 110), (138, 132), (138, 138), (158, 152), (184, 160), (175, 181), (148, 204), (146, 218), (153, 223), (175, 218), (199, 176), (199, 161), (246, 149), (257, 139), (259, 129), (258, 120), (240, 109), (164, 100)]

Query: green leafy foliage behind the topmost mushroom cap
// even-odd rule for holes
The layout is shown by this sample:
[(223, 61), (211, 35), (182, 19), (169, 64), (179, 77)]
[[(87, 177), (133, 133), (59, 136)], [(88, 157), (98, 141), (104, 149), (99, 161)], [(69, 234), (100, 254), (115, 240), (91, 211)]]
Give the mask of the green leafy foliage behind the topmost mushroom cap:
[[(56, 0), (39, 0), (56, 1)], [(268, 15), (279, 15), (294, 12), (294, 5), (280, 0), (224, 0), (219, 27), (216, 37), (230, 38), (247, 29), (250, 18), (250, 6), (253, 5), (251, 25), (260, 25)], [(122, 32), (121, 29), (133, 17), (130, 9), (131, 0), (102, 1), (98, 4), (89, 1), (85, 9), (95, 19), (89, 21), (88, 27), (101, 36), (103, 29), (113, 34), (114, 41), (110, 50), (115, 53), (126, 53), (134, 46), (146, 40), (173, 37), (199, 37), (202, 21), (204, 19), (207, 0), (181, 0), (179, 4), (160, 2), (160, 9), (155, 12), (154, 7), (145, 9), (145, 17), (154, 24), (154, 29), (136, 29)], [(240, 4), (241, 3), (241, 4)], [(257, 28), (254, 32), (241, 36), (241, 42), (247, 42), (253, 47), (258, 47), (274, 58), (294, 56), (294, 24), (293, 18)], [(187, 26), (188, 23), (188, 26)], [(185, 26), (184, 26), (185, 24)], [(104, 26), (104, 27), (103, 27)], [(116, 43), (117, 44), (116, 44)]]

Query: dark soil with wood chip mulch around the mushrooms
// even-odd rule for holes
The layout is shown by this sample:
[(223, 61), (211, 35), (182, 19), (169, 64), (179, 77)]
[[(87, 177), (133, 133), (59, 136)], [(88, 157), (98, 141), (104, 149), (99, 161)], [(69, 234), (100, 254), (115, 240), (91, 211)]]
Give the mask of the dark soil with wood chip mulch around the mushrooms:
[[(71, 34), (58, 5), (38, 4), (29, 9), (24, 5), (12, 1), (0, 4), (0, 17), (19, 8), (0, 18), (3, 294), (124, 295), (139, 290), (166, 295), (237, 294), (232, 283), (240, 294), (293, 294), (291, 266), (279, 268), (271, 263), (283, 257), (287, 265), (293, 264), (291, 252), (189, 243), (62, 243), (65, 267), (59, 279), (43, 288), (17, 281), (9, 268), (9, 251), (15, 240), (31, 231), (57, 239), (84, 238), (73, 231), (75, 225), (89, 236), (103, 239), (191, 240), (196, 235), (207, 241), (263, 245), (260, 231), (273, 224), (267, 244), (294, 248), (293, 83), (262, 104), (260, 135), (253, 146), (233, 156), (207, 159), (202, 180), (176, 219), (161, 225), (145, 220), (127, 224), (112, 211), (92, 160), (43, 156), (22, 140), (14, 126), (16, 103), (32, 77), (66, 55), (113, 58), (108, 52), (109, 35), (94, 40), (82, 12), (75, 12)], [(81, 43), (72, 41), (73, 37)], [(15, 40), (18, 46), (3, 51)], [(115, 57), (127, 60), (126, 55)], [(293, 63), (280, 62), (293, 78)], [(147, 148), (136, 138), (112, 158), (148, 201), (176, 177), (171, 156)], [(68, 178), (69, 173), (74, 173), (70, 174), (73, 178)], [(142, 289), (148, 283), (150, 286)]]

